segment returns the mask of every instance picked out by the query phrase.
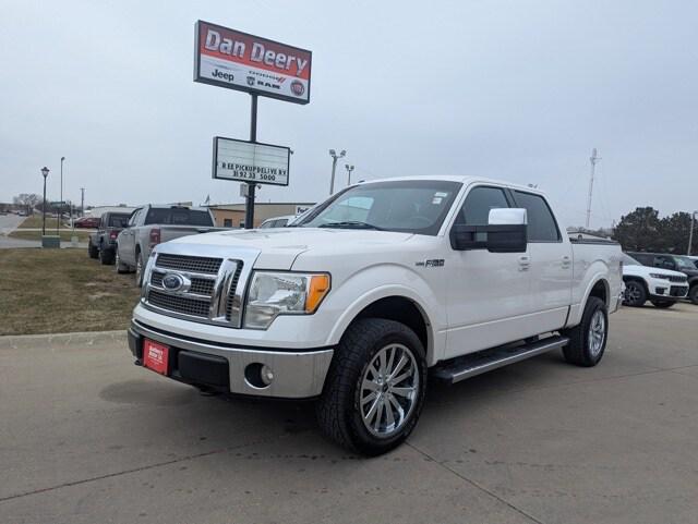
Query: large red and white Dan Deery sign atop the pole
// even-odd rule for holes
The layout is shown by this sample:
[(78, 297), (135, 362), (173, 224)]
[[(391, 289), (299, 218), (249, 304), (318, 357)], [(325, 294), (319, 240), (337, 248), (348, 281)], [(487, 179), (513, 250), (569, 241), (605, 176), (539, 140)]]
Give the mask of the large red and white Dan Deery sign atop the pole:
[(311, 51), (202, 21), (195, 39), (194, 82), (310, 101)]

